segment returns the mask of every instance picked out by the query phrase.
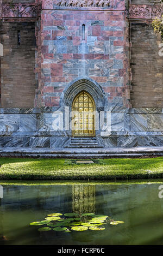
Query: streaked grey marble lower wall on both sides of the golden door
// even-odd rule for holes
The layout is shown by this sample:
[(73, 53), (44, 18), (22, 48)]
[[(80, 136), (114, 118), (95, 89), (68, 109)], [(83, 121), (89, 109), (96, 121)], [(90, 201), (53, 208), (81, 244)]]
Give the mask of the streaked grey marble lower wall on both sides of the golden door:
[[(163, 109), (124, 109), (111, 111), (111, 130), (96, 132), (104, 147), (163, 145)], [(54, 111), (62, 108), (0, 109), (0, 147), (64, 147), (71, 130), (60, 130)], [(53, 129), (55, 123), (55, 130)], [(106, 122), (106, 118), (105, 118)]]

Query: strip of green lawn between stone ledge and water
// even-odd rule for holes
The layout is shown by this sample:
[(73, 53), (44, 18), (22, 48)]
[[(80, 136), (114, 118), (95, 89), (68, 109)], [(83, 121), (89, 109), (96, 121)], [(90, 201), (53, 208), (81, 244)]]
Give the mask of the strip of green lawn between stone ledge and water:
[(104, 159), (70, 164), (65, 159), (0, 158), (0, 180), (129, 180), (162, 178), (163, 157)]

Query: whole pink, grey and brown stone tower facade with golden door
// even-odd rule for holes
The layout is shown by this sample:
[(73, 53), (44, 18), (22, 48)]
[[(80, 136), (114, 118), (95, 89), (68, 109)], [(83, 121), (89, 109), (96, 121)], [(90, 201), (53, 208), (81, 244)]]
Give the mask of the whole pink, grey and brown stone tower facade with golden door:
[(162, 145), (159, 6), (1, 2), (0, 147)]

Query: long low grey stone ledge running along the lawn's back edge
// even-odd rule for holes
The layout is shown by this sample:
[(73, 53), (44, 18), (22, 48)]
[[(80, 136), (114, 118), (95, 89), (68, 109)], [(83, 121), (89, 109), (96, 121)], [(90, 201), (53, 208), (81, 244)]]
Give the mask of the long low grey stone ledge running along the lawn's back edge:
[(0, 157), (34, 158), (136, 158), (163, 156), (162, 147), (131, 148), (13, 148), (0, 147)]

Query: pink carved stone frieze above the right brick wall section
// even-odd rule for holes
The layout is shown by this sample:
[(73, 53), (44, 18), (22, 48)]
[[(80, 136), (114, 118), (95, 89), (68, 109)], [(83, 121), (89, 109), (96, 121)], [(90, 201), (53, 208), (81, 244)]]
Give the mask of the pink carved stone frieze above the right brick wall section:
[(129, 8), (129, 16), (133, 19), (153, 19), (161, 17), (162, 7), (160, 5), (135, 5), (131, 4)]

